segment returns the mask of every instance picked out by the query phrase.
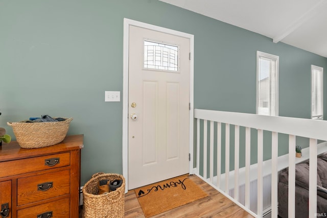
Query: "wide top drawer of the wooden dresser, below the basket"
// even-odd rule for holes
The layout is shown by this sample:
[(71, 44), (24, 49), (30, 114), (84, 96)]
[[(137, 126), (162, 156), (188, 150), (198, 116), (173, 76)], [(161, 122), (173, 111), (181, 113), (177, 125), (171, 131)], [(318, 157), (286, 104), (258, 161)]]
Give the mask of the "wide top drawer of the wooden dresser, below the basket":
[(32, 157), (19, 160), (0, 162), (0, 177), (42, 171), (44, 169), (69, 166), (71, 153)]

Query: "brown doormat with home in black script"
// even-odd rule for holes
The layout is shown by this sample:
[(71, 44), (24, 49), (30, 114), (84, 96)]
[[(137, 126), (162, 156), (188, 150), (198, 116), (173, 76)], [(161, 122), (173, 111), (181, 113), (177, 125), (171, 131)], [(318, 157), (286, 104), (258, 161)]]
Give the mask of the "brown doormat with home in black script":
[(135, 189), (145, 217), (191, 203), (207, 195), (188, 176), (175, 177)]

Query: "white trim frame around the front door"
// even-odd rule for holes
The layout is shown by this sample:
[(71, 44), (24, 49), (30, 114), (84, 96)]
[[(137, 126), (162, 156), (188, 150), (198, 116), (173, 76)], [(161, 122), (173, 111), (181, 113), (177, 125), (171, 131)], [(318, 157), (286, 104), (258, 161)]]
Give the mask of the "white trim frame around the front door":
[(193, 172), (193, 131), (194, 131), (194, 35), (171, 30), (163, 27), (150, 25), (148, 23), (139, 22), (124, 18), (123, 33), (123, 176), (125, 177), (125, 192), (128, 191), (128, 56), (129, 56), (129, 26), (141, 27), (153, 31), (168, 33), (190, 39), (190, 117), (189, 117), (189, 173)]

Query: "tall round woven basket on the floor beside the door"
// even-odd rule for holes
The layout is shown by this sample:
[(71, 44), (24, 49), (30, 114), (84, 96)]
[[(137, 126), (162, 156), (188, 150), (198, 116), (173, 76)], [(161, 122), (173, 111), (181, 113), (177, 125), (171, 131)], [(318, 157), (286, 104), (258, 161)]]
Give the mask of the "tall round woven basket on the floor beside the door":
[[(102, 179), (123, 180), (121, 187), (103, 195), (98, 194), (98, 182)], [(83, 186), (83, 218), (124, 217), (125, 178), (119, 174), (98, 173)]]

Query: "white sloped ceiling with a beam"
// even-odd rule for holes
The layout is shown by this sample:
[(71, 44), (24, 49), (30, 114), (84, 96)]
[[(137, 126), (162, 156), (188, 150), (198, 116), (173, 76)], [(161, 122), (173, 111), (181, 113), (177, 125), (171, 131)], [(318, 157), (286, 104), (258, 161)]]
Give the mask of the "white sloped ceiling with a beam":
[(327, 0), (159, 0), (327, 57)]

